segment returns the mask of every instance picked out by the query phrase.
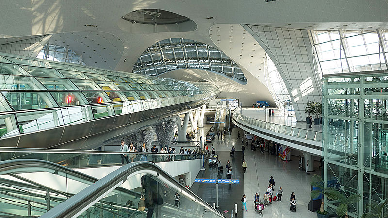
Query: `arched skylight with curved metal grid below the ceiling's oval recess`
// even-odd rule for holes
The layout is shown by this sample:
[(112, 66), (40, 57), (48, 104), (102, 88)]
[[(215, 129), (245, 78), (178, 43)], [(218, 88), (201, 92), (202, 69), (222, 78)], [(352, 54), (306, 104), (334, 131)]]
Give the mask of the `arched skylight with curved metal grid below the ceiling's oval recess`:
[(170, 38), (149, 47), (136, 61), (133, 73), (156, 76), (170, 70), (200, 68), (246, 81), (240, 67), (225, 53), (205, 43)]

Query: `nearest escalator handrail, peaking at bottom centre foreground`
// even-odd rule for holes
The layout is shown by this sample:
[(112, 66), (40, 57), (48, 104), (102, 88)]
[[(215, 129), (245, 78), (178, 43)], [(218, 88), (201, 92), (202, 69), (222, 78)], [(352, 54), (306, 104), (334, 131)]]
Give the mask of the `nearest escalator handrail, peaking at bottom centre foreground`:
[(185, 195), (189, 195), (192, 201), (197, 201), (198, 204), (201, 205), (203, 204), (206, 209), (218, 215), (219, 217), (225, 217), (223, 214), (212, 208), (210, 204), (200, 199), (196, 194), (194, 194), (194, 192), (178, 183), (173, 177), (171, 177), (167, 172), (163, 171), (156, 164), (151, 162), (133, 162), (120, 167), (119, 169), (98, 180), (96, 183), (84, 188), (65, 202), (57, 205), (47, 213), (43, 214), (41, 218), (77, 217), (88, 208), (93, 206), (96, 202), (105, 197), (105, 195), (109, 194), (116, 187), (124, 183), (127, 179), (135, 175), (145, 173), (159, 178), (163, 181), (163, 183), (166, 183), (166, 185), (169, 187), (176, 189), (178, 192), (181, 192), (181, 194), (184, 193)]

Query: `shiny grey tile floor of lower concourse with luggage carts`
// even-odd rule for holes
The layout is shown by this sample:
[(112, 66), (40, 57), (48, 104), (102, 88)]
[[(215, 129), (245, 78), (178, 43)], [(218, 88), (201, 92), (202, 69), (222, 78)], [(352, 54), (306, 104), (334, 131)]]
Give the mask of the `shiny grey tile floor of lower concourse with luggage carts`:
[[(222, 140), (217, 140), (217, 138), (213, 140), (214, 149), (216, 151), (229, 152), (231, 147), (234, 145), (236, 151), (241, 151), (241, 141), (237, 140), (238, 131), (240, 131), (240, 135), (242, 136), (243, 130), (239, 128), (233, 128), (232, 133), (223, 137)], [(277, 156), (269, 155), (268, 152), (260, 153), (259, 150), (251, 151), (249, 147), (245, 150), (244, 159), (247, 162), (248, 167), (246, 173), (243, 174), (243, 193), (236, 193), (237, 196), (231, 195), (229, 199), (221, 200), (232, 200), (234, 201), (233, 204), (237, 203), (239, 209), (238, 217), (242, 217), (242, 213), (244, 213), (244, 218), (317, 217), (316, 213), (313, 213), (307, 209), (308, 202), (310, 201), (311, 175), (307, 175), (305, 172), (298, 170), (298, 161), (296, 157), (292, 158), (291, 156), (291, 159), (294, 159), (293, 161), (283, 162), (279, 160)], [(225, 160), (221, 159), (221, 161), (223, 161), (223, 165), (225, 166)], [(235, 164), (237, 165), (237, 163)], [(239, 168), (241, 169), (241, 164)], [(317, 171), (315, 173), (320, 174), (321, 172)], [(260, 199), (263, 198), (270, 176), (273, 176), (275, 179), (275, 193), (279, 186), (283, 187), (283, 200), (282, 202), (273, 202), (270, 206), (264, 209), (262, 215), (259, 215), (254, 210), (253, 196), (256, 192), (259, 192)], [(296, 195), (296, 213), (290, 212), (289, 198), (291, 192), (295, 192)], [(242, 194), (246, 194), (248, 197), (248, 212), (242, 212), (242, 203), (240, 202)]]

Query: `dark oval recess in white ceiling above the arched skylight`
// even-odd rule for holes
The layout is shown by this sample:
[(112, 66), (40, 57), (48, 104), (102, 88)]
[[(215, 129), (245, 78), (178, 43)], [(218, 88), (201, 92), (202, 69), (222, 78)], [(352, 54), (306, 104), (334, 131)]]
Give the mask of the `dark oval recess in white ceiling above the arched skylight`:
[(179, 24), (190, 21), (190, 19), (185, 16), (160, 9), (142, 9), (132, 11), (123, 16), (122, 19), (132, 23), (150, 25)]

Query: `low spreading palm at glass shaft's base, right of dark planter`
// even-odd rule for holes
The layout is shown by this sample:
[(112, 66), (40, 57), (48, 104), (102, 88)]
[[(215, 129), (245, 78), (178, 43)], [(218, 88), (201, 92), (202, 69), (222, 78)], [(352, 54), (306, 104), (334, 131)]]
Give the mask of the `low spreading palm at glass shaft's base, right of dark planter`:
[(361, 199), (360, 194), (350, 194), (349, 196), (345, 195), (343, 192), (339, 191), (330, 191), (326, 193), (327, 198), (331, 200), (338, 200), (339, 204), (337, 205), (336, 214), (339, 217), (348, 216), (348, 208), (351, 204), (357, 203)]

